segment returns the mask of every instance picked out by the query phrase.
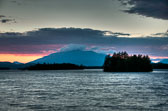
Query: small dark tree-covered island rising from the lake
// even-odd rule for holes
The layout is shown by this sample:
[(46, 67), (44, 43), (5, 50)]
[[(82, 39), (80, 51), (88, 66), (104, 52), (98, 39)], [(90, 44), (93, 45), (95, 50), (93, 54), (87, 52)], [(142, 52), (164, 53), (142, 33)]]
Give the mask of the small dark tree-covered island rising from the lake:
[(151, 60), (148, 56), (131, 55), (127, 52), (107, 55), (103, 65), (104, 72), (151, 72)]

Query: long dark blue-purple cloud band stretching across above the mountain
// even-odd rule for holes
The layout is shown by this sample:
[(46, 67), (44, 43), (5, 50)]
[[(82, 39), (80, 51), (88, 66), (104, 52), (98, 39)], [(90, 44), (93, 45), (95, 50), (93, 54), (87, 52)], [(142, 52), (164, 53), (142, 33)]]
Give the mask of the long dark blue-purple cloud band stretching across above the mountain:
[(54, 50), (58, 45), (81, 44), (133, 53), (168, 55), (168, 36), (128, 38), (114, 36), (112, 32), (107, 36), (107, 32), (80, 28), (42, 28), (26, 33), (1, 33), (0, 53), (40, 53), (43, 50)]

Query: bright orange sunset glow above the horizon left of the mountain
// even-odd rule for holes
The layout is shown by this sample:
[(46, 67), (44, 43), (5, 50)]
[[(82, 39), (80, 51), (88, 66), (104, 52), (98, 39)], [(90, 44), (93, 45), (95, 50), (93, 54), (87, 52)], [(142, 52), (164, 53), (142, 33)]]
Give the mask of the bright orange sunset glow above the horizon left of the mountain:
[(0, 62), (14, 62), (18, 61), (21, 63), (27, 63), (38, 58), (43, 57), (44, 55), (35, 55), (35, 54), (0, 54)]

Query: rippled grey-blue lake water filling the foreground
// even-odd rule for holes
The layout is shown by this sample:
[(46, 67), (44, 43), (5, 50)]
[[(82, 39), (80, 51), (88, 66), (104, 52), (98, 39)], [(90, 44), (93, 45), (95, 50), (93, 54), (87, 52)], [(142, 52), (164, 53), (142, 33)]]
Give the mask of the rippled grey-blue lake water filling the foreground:
[(168, 111), (168, 70), (1, 71), (0, 111)]

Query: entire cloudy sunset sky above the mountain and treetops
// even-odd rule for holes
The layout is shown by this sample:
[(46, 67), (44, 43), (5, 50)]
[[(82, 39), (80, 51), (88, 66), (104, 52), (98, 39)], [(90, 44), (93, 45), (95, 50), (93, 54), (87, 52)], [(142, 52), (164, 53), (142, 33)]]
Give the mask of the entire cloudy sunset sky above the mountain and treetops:
[(0, 61), (65, 48), (168, 58), (167, 0), (0, 0)]

